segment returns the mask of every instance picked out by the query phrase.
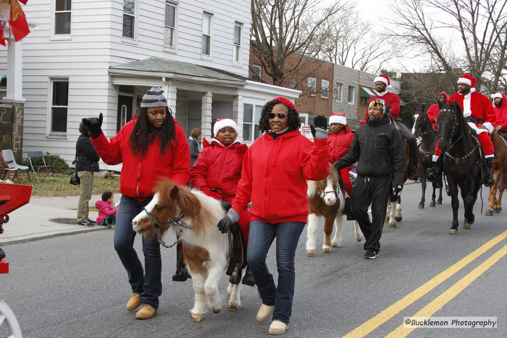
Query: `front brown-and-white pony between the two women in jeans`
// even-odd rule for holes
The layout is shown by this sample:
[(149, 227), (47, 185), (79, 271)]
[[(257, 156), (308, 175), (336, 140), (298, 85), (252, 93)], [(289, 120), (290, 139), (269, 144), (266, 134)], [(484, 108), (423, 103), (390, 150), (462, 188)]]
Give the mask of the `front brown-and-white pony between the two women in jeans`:
[[(220, 201), (204, 193), (161, 180), (153, 200), (132, 220), (132, 229), (146, 237), (160, 236), (169, 229), (183, 243), (183, 256), (192, 276), (195, 292), (192, 320), (200, 322), (206, 302), (214, 313), (220, 312), (222, 297), (218, 284), (229, 264), (229, 235), (216, 227), (224, 217)], [(183, 221), (184, 226), (179, 226)], [(240, 285), (229, 285), (229, 311), (240, 303)]]

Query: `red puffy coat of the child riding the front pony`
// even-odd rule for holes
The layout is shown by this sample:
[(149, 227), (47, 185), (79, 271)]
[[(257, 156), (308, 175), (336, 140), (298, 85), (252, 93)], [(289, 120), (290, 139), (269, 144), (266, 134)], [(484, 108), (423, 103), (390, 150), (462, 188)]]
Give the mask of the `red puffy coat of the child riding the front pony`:
[(216, 189), (222, 200), (232, 202), (241, 178), (242, 159), (238, 150), (242, 147), (246, 148), (246, 144), (238, 141), (225, 146), (212, 138), (190, 171), (190, 184), (204, 192), (206, 188)]

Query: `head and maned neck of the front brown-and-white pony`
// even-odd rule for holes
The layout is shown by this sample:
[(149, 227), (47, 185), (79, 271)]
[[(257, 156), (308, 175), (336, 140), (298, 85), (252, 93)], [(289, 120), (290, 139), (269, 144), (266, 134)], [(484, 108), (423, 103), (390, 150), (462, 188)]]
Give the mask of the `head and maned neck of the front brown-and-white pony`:
[(155, 234), (162, 237), (171, 227), (171, 220), (182, 215), (184, 222), (192, 228), (193, 235), (199, 236), (212, 227), (216, 228), (224, 215), (219, 201), (170, 179), (159, 181), (154, 192), (152, 201), (132, 220), (132, 229), (146, 237)]

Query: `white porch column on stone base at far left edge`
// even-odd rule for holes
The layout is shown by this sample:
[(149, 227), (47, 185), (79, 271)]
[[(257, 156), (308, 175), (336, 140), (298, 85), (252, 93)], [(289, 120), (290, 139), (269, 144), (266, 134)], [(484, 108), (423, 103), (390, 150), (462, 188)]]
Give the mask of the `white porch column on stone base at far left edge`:
[(22, 52), (22, 41), (15, 42), (14, 38), (11, 39), (11, 45), (7, 45), (7, 96), (4, 99), (25, 101), (23, 98)]

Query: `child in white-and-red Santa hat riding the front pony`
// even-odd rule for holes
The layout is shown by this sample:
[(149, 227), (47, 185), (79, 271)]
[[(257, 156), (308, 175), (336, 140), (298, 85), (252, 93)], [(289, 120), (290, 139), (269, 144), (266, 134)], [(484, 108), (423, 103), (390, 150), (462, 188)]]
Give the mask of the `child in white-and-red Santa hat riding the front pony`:
[[(241, 178), (241, 168), (248, 146), (238, 138), (239, 128), (231, 119), (217, 119), (213, 126), (213, 138), (202, 149), (190, 171), (190, 185), (204, 194), (221, 201), (225, 210), (231, 208), (236, 188)], [(248, 244), (250, 214), (244, 210), (238, 221), (241, 234)], [(243, 284), (254, 285), (248, 273)]]

